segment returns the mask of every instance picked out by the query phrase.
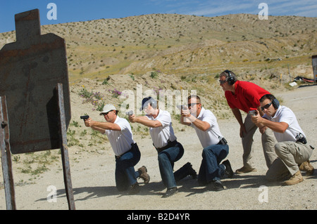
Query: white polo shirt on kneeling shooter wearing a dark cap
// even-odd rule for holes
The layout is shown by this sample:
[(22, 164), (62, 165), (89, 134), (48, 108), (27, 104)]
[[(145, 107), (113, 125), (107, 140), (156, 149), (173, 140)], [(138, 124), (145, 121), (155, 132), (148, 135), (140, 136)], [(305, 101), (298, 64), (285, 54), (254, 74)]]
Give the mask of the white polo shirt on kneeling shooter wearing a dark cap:
[(151, 121), (160, 121), (162, 126), (157, 128), (149, 128), (153, 144), (155, 147), (164, 147), (168, 144), (168, 140), (173, 142), (176, 140), (174, 130), (172, 127), (172, 118), (170, 113), (166, 110), (159, 110), (159, 114), (156, 118), (151, 115), (146, 115)]

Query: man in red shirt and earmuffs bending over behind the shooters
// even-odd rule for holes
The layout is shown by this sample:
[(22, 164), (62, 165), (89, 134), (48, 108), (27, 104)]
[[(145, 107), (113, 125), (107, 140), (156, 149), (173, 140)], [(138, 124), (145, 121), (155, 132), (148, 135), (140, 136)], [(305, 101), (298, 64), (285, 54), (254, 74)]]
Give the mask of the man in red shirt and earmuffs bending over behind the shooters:
[[(240, 124), (240, 137), (242, 138), (243, 147), (243, 166), (242, 168), (237, 169), (236, 173), (255, 172), (256, 169), (252, 162), (252, 143), (257, 126), (251, 121), (251, 114), (248, 112), (251, 110), (258, 110), (262, 117), (264, 114), (262, 110), (260, 110), (259, 100), (263, 95), (270, 93), (249, 81), (238, 81), (235, 74), (229, 70), (225, 70), (220, 74), (219, 81), (220, 86), (223, 88), (223, 91), (225, 91), (225, 98), (227, 99), (228, 105)], [(240, 110), (247, 113), (247, 117), (245, 117), (244, 121), (242, 120)], [(261, 131), (261, 133), (266, 166), (269, 167), (277, 158), (274, 150), (276, 140), (271, 129), (265, 129)]]

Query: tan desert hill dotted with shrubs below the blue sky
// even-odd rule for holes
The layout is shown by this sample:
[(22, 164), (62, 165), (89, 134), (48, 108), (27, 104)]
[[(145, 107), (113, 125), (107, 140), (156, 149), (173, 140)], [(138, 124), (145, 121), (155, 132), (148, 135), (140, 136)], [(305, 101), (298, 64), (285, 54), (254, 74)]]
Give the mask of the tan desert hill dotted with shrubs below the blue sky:
[[(291, 70), (311, 65), (311, 55), (317, 53), (316, 20), (152, 14), (46, 25), (42, 34), (54, 32), (66, 39), (70, 81), (152, 70), (214, 76), (225, 68), (271, 77), (288, 74), (287, 64)], [(12, 41), (15, 32), (0, 34), (0, 46)]]

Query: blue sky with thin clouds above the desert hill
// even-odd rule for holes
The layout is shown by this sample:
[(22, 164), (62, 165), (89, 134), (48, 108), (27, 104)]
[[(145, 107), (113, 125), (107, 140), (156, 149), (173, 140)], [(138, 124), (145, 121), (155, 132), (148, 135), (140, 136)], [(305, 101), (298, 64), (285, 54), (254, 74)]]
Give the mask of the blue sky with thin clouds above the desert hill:
[[(56, 20), (49, 20), (49, 3), (56, 4)], [(39, 8), (41, 25), (124, 18), (151, 13), (217, 16), (235, 13), (258, 14), (268, 5), (268, 15), (317, 16), (316, 0), (0, 0), (0, 33), (15, 29), (14, 15)]]

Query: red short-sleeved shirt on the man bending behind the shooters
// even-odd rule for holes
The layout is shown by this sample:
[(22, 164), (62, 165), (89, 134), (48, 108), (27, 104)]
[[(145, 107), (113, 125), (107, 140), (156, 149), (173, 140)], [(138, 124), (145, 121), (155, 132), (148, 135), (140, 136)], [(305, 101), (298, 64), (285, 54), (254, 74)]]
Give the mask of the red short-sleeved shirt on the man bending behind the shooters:
[(225, 98), (230, 108), (238, 108), (244, 112), (256, 110), (260, 105), (260, 99), (263, 95), (270, 94), (264, 88), (249, 81), (236, 81), (235, 94), (231, 91), (225, 91)]

